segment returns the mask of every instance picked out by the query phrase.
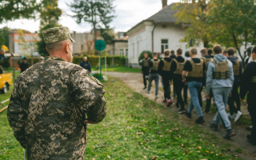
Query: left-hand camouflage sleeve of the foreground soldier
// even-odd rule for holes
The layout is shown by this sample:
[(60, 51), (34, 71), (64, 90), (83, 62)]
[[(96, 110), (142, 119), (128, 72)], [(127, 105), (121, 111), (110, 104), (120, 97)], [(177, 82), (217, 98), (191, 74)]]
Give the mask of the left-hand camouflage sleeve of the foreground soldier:
[(14, 83), (14, 90), (10, 97), (10, 103), (7, 109), (7, 118), (10, 127), (14, 130), (14, 137), (26, 149), (25, 122), (26, 111), (22, 108), (22, 101), (18, 94), (18, 78)]

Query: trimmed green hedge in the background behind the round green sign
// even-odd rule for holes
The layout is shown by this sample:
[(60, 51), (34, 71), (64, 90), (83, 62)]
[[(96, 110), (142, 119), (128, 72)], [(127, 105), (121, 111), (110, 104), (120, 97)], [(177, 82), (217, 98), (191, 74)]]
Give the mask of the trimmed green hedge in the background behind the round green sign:
[[(75, 56), (73, 58), (74, 64), (80, 65), (80, 62), (82, 62), (82, 56), (77, 57)], [(90, 55), (87, 56), (88, 62), (90, 62), (91, 67), (98, 66), (98, 59), (99, 56), (96, 55)], [(105, 65), (105, 57), (102, 57), (102, 65)], [(108, 66), (125, 66), (126, 65), (126, 57), (125, 56), (106, 56), (106, 65)]]

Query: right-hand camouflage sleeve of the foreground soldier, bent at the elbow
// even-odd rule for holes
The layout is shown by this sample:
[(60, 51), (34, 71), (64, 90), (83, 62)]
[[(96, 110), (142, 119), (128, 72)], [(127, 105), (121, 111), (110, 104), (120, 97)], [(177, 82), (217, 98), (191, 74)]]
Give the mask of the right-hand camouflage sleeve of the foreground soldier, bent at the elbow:
[(102, 122), (106, 117), (105, 90), (88, 70), (74, 69), (70, 73), (71, 95), (76, 106), (90, 122)]

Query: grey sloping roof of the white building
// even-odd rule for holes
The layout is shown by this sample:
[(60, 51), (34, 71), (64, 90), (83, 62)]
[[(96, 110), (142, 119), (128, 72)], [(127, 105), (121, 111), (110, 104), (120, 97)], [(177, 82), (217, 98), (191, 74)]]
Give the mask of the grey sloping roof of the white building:
[(175, 23), (176, 18), (174, 18), (174, 14), (177, 13), (177, 10), (171, 9), (171, 7), (173, 7), (175, 4), (176, 3), (171, 3), (170, 5), (163, 7), (162, 10), (159, 10), (158, 13), (152, 15), (146, 20), (156, 23)]

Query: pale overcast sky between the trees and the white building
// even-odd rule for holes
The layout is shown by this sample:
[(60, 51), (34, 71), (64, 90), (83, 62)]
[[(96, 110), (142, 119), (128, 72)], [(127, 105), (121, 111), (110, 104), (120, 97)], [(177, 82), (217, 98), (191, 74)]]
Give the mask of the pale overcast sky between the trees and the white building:
[[(91, 25), (88, 22), (82, 22), (77, 24), (74, 18), (67, 16), (67, 14), (72, 14), (70, 7), (66, 3), (70, 4), (73, 0), (58, 0), (58, 6), (62, 10), (63, 14), (60, 18), (60, 23), (62, 26), (68, 26), (71, 31), (76, 31), (77, 33), (88, 32), (91, 30)], [(168, 0), (168, 4), (172, 2), (180, 2), (180, 0)], [(151, 15), (157, 13), (162, 9), (162, 0), (114, 0), (115, 15), (113, 22), (110, 26), (114, 28), (115, 32), (127, 31), (131, 27), (138, 24), (142, 20), (149, 18)], [(14, 22), (6, 22), (0, 25), (8, 26), (12, 29), (23, 29), (29, 30), (30, 32), (35, 32), (39, 30), (40, 20), (26, 20), (20, 19)]]

